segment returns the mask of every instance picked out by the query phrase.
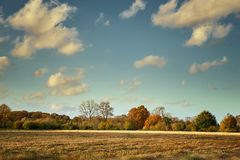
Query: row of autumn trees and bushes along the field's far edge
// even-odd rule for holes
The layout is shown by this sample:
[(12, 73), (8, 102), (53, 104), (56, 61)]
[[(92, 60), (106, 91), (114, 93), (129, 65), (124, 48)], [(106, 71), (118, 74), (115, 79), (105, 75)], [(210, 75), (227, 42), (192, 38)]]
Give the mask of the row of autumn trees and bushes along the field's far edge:
[(179, 119), (171, 116), (164, 107), (156, 107), (151, 113), (144, 106), (133, 107), (128, 114), (113, 116), (109, 102), (83, 101), (79, 116), (44, 112), (12, 111), (5, 104), (0, 106), (0, 129), (67, 129), (67, 130), (160, 130), (160, 131), (207, 131), (238, 132), (240, 115), (227, 114), (218, 123), (209, 111), (195, 117)]

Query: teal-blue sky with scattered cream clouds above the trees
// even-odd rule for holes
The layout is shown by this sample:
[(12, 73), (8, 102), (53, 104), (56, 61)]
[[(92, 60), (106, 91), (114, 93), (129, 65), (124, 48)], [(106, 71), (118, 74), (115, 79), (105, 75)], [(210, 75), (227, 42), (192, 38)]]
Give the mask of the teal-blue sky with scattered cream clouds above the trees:
[(240, 114), (240, 0), (1, 0), (0, 103)]

